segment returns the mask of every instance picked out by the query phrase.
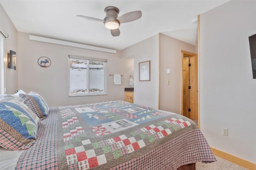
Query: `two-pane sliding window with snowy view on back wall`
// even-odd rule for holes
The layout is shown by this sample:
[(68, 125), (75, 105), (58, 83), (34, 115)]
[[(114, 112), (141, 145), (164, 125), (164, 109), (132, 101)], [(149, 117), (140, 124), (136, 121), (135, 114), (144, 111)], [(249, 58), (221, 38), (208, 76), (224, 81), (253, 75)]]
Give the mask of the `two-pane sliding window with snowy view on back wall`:
[(69, 96), (106, 94), (106, 59), (69, 55)]

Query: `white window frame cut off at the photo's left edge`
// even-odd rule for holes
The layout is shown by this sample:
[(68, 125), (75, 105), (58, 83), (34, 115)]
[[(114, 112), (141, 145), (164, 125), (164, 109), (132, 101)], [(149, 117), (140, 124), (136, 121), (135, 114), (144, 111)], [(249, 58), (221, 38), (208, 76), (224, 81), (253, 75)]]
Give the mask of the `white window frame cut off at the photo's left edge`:
[(5, 77), (5, 70), (6, 70), (6, 61), (4, 59), (5, 56), (5, 46), (4, 46), (4, 39), (5, 37), (0, 34), (0, 94), (6, 93), (6, 77)]

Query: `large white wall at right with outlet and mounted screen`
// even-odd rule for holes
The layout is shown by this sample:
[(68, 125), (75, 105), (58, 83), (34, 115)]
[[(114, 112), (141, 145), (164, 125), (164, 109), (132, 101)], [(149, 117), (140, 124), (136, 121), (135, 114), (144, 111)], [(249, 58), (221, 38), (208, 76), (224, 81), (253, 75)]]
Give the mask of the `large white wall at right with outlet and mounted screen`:
[(256, 33), (255, 9), (256, 1), (232, 0), (200, 15), (200, 129), (211, 147), (254, 163), (256, 79), (248, 37)]

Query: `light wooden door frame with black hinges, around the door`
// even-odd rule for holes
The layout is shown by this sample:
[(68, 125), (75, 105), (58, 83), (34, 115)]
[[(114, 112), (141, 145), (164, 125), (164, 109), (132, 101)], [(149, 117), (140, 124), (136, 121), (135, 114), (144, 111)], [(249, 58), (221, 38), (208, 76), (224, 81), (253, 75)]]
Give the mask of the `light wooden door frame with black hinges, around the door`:
[(193, 119), (198, 120), (198, 56), (195, 53), (181, 50), (181, 108), (183, 115), (183, 57), (190, 57), (190, 109), (194, 113)]

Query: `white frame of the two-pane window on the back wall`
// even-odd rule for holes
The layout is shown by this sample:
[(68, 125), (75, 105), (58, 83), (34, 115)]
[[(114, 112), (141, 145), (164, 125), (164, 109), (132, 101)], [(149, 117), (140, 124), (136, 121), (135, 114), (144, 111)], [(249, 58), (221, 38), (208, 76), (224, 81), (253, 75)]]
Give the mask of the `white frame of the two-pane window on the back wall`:
[[(86, 93), (83, 94), (74, 94), (70, 93), (70, 58), (72, 59), (82, 59), (87, 61), (100, 61), (103, 62), (103, 70), (104, 70), (104, 90), (103, 92), (90, 92), (90, 85), (89, 85), (89, 69), (87, 70), (87, 90)], [(83, 56), (77, 56), (77, 55), (68, 55), (68, 77), (69, 77), (69, 86), (68, 86), (68, 96), (98, 96), (98, 95), (106, 95), (107, 94), (107, 60), (106, 59), (98, 59), (98, 58), (92, 58), (92, 57), (83, 57)], [(87, 64), (87, 68), (89, 68), (89, 64)]]

